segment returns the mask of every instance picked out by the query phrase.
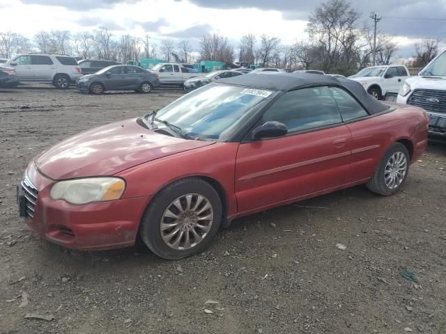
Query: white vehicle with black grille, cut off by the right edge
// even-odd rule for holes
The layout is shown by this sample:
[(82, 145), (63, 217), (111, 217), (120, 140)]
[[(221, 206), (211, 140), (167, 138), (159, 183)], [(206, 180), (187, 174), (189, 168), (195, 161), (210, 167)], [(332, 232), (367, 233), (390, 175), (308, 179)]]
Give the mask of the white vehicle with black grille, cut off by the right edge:
[(429, 115), (429, 134), (446, 138), (446, 51), (399, 90), (398, 103), (421, 106)]

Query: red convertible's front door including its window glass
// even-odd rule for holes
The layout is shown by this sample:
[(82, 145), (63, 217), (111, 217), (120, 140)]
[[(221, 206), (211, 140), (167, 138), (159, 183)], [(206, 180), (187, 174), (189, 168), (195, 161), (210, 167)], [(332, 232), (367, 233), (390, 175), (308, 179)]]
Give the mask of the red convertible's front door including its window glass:
[(284, 93), (257, 126), (268, 121), (282, 122), (289, 132), (279, 138), (240, 143), (235, 175), (240, 214), (324, 193), (346, 183), (351, 133), (328, 87)]

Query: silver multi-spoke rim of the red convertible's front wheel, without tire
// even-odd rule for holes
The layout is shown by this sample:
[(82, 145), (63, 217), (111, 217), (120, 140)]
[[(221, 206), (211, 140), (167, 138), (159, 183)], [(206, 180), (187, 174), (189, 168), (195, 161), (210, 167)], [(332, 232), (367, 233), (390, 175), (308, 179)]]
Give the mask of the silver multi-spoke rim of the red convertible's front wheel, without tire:
[(162, 240), (176, 250), (190, 249), (206, 238), (213, 220), (213, 207), (208, 198), (187, 193), (176, 198), (164, 211), (160, 222)]

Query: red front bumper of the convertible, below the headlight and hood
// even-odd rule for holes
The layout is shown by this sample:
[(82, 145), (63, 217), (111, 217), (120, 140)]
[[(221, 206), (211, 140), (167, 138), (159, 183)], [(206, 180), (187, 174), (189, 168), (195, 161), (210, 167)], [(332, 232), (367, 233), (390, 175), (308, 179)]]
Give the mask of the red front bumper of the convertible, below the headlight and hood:
[[(33, 164), (26, 175), (38, 195), (32, 216), (28, 214), (24, 219), (40, 237), (81, 250), (123, 248), (134, 244), (139, 221), (151, 199), (149, 196), (71, 205), (49, 197), (54, 181), (38, 173)], [(22, 184), (19, 187), (17, 194), (20, 196)], [(23, 205), (21, 209), (23, 214)]]

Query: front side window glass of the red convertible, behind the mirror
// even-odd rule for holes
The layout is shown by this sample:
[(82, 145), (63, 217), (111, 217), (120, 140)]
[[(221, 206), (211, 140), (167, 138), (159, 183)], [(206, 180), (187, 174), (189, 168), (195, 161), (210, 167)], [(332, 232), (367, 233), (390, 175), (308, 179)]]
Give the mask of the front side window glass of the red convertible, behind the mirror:
[(342, 122), (327, 87), (304, 88), (285, 93), (263, 114), (263, 123), (282, 122), (288, 133)]

